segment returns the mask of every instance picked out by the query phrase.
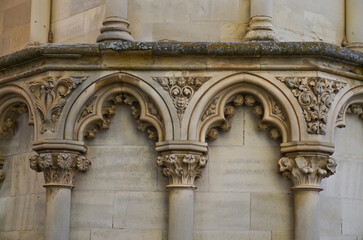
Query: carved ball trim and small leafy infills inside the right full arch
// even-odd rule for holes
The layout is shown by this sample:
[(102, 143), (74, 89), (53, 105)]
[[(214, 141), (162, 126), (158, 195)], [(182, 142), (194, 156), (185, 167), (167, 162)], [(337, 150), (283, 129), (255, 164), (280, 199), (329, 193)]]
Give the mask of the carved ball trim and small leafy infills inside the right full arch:
[[(219, 101), (219, 97), (216, 97), (208, 108), (205, 110), (201, 120), (205, 121), (215, 115), (217, 115), (217, 104)], [(272, 113), (279, 118), (281, 121), (286, 121), (286, 117), (281, 110), (279, 104), (277, 104), (273, 99), (270, 99), (272, 105)], [(280, 130), (276, 127), (267, 124), (266, 122), (262, 121), (264, 115), (263, 106), (258, 100), (252, 95), (241, 95), (238, 94), (230, 99), (230, 101), (224, 107), (224, 121), (221, 121), (218, 126), (214, 126), (208, 129), (206, 133), (206, 139), (208, 140), (216, 140), (218, 138), (218, 130), (222, 132), (228, 132), (232, 129), (232, 125), (229, 118), (233, 117), (236, 113), (236, 107), (240, 107), (246, 105), (248, 107), (253, 107), (253, 114), (259, 118), (261, 121), (258, 122), (257, 127), (260, 131), (269, 131), (269, 136), (273, 140), (279, 140), (281, 138)]]

